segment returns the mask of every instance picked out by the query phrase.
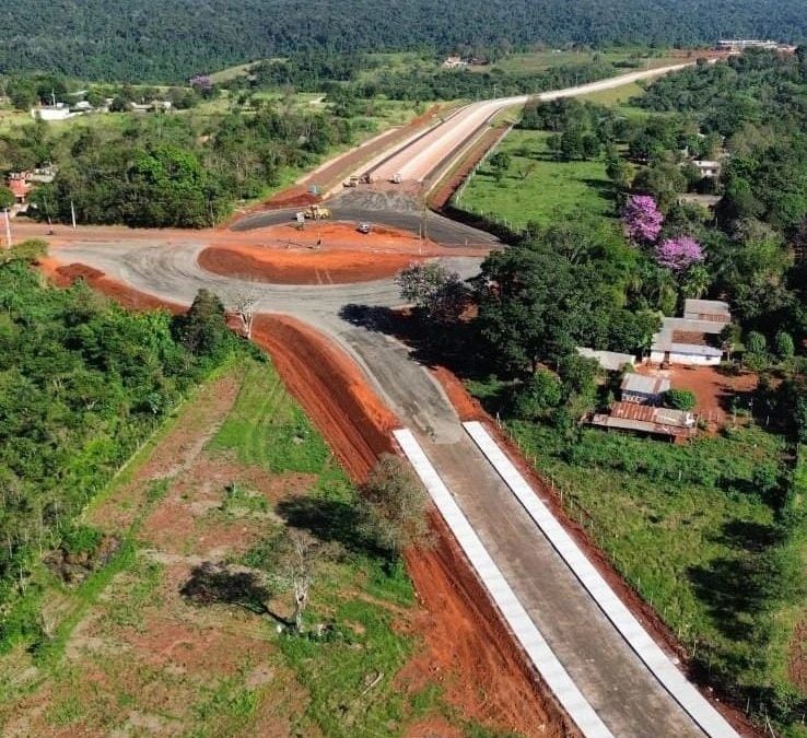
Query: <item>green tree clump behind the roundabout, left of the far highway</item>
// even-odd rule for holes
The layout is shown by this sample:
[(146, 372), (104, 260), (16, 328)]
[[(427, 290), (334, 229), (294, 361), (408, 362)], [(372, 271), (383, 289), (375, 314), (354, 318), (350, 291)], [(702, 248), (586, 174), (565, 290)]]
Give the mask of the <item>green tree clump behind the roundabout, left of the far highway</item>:
[(74, 208), (81, 223), (203, 227), (352, 136), (351, 122), (327, 110), (267, 107), (61, 130), (36, 121), (0, 134), (0, 169), (58, 167), (31, 196), (28, 214), (43, 221), (69, 223)]

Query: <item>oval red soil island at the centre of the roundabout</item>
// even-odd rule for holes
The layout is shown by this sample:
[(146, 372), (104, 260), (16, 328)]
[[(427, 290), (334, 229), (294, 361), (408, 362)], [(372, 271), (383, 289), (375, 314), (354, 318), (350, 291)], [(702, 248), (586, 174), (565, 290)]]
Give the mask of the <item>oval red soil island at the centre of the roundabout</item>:
[(370, 282), (397, 273), (412, 261), (404, 254), (361, 251), (278, 251), (211, 246), (199, 266), (214, 274), (257, 279), (274, 284), (344, 284)]

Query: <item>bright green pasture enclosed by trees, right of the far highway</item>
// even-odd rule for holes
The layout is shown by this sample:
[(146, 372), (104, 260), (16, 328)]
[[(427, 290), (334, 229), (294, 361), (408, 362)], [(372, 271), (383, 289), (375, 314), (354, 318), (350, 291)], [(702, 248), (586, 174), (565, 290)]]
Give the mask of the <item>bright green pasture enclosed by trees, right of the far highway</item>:
[(545, 131), (511, 131), (496, 149), (511, 155), (502, 180), (496, 181), (490, 166), (482, 164), (454, 204), (506, 221), (514, 230), (528, 221), (546, 225), (573, 213), (611, 215), (605, 163), (553, 161), (547, 151), (548, 137)]

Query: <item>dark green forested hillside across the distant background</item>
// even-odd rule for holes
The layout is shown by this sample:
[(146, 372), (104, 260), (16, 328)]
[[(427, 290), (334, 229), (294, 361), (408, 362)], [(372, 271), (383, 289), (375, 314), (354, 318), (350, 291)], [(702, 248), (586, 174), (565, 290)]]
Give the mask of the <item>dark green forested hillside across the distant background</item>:
[(797, 42), (807, 37), (803, 10), (799, 0), (31, 0), (0, 10), (0, 72), (178, 81), (304, 48)]

